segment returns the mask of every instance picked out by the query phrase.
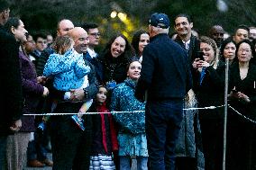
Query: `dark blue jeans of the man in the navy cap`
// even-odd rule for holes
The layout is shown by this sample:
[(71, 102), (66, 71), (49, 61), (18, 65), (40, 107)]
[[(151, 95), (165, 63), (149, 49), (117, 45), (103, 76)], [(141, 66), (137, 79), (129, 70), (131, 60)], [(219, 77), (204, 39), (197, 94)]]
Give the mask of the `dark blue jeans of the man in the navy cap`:
[(182, 121), (183, 99), (146, 104), (145, 121), (150, 169), (174, 170), (175, 145)]

